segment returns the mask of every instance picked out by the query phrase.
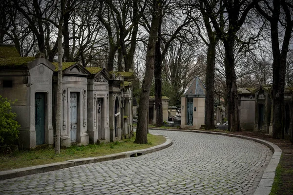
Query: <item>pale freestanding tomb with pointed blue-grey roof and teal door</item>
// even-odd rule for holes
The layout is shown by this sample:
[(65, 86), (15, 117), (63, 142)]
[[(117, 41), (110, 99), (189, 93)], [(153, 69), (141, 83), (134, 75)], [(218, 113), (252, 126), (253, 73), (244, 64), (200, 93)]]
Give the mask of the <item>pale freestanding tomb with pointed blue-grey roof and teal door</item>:
[(195, 78), (184, 97), (181, 98), (181, 128), (196, 128), (205, 124), (206, 87)]

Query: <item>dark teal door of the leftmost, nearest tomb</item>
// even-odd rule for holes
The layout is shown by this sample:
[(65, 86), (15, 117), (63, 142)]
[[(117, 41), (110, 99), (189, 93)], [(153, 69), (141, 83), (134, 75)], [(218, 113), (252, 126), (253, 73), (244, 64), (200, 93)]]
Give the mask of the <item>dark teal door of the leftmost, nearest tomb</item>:
[(45, 95), (35, 94), (35, 126), (36, 145), (44, 144), (45, 140)]

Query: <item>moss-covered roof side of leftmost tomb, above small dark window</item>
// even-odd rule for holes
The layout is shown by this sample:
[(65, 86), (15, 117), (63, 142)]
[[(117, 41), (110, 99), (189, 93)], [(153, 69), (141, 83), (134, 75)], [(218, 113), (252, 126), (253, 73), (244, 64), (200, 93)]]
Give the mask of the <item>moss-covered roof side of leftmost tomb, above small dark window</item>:
[(25, 68), (27, 63), (35, 60), (35, 57), (0, 58), (0, 68)]

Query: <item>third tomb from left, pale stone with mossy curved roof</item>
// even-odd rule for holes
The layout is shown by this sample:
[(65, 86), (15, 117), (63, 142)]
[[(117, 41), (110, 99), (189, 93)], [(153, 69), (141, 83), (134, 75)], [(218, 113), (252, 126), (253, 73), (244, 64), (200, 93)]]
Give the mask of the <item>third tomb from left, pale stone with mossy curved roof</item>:
[(89, 143), (110, 141), (109, 130), (109, 71), (105, 68), (86, 68), (87, 79), (87, 132)]

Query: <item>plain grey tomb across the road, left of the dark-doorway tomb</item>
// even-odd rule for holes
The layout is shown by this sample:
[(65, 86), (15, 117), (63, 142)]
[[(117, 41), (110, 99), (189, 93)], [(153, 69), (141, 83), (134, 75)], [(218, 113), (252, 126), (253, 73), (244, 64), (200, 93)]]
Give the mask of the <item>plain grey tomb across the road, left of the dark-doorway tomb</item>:
[(240, 127), (244, 131), (253, 131), (255, 121), (254, 88), (238, 88)]

